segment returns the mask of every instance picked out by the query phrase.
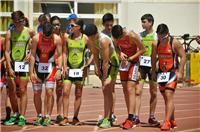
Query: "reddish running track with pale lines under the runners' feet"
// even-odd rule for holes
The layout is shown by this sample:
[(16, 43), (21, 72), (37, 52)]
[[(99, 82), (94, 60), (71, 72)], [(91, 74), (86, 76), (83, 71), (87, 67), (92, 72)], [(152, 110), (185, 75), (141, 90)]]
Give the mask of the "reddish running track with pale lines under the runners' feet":
[[(73, 89), (73, 88), (72, 88)], [(2, 93), (2, 99), (4, 100), (5, 89)], [(156, 107), (156, 118), (162, 122), (164, 118), (164, 101), (160, 94), (158, 94), (158, 102)], [(156, 127), (150, 127), (145, 123), (149, 116), (149, 89), (143, 89), (142, 95), (142, 106), (140, 113), (140, 120), (143, 124), (140, 127), (132, 128), (129, 131), (137, 132), (159, 132), (160, 129)], [(115, 114), (117, 116), (117, 123), (122, 123), (127, 117), (127, 111), (123, 96), (123, 91), (120, 85), (116, 88), (116, 106)], [(73, 101), (74, 101), (74, 90), (71, 91), (70, 97), (70, 117), (73, 116)], [(82, 126), (58, 126), (51, 125), (48, 127), (33, 126), (32, 123), (36, 118), (36, 111), (33, 104), (33, 92), (32, 88), (28, 88), (28, 107), (26, 112), (26, 120), (28, 125), (24, 127), (5, 126), (1, 125), (2, 132), (9, 131), (48, 131), (48, 132), (118, 132), (122, 131), (118, 126), (111, 127), (108, 129), (100, 129), (96, 126), (97, 120), (103, 115), (103, 95), (100, 88), (92, 88), (87, 86), (83, 90), (82, 106), (80, 109), (79, 119), (84, 123)], [(180, 132), (198, 132), (200, 131), (200, 87), (184, 87), (178, 88), (175, 93), (175, 118), (177, 120), (178, 128), (172, 129), (171, 131)], [(52, 119), (56, 117), (56, 105), (54, 104)], [(5, 106), (1, 102), (1, 119), (5, 118)]]

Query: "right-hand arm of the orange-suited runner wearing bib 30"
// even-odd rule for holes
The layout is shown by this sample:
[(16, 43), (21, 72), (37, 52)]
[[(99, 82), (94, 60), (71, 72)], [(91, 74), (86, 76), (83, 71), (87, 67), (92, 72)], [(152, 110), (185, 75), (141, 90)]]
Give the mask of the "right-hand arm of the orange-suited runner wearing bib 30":
[(180, 64), (178, 68), (178, 80), (181, 81), (184, 75), (184, 66), (186, 63), (186, 54), (183, 49), (181, 42), (174, 38), (172, 46), (174, 47), (175, 53), (180, 57)]

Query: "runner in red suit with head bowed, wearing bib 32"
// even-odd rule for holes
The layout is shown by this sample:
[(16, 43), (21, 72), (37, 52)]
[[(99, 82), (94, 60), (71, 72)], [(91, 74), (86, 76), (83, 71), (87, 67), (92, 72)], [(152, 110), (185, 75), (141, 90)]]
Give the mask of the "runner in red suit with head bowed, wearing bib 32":
[[(58, 64), (55, 66), (54, 54), (58, 53)], [(31, 47), (30, 77), (33, 83), (34, 104), (37, 111), (37, 119), (34, 125), (48, 126), (51, 124), (52, 98), (55, 86), (55, 78), (60, 79), (62, 69), (62, 44), (61, 39), (53, 34), (53, 26), (50, 23), (43, 25), (43, 33), (33, 37)], [(42, 84), (45, 85), (47, 98), (47, 113), (42, 115)], [(44, 101), (45, 102), (45, 101)]]

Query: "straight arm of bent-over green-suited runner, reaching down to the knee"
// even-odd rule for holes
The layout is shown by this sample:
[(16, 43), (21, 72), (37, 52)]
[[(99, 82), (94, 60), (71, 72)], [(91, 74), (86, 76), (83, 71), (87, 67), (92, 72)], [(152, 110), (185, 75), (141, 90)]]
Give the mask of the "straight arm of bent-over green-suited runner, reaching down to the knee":
[(109, 45), (110, 40), (107, 38), (104, 38), (101, 40), (101, 46), (102, 46), (102, 54), (103, 54), (103, 75), (102, 80), (106, 79), (108, 76), (108, 66), (109, 66)]

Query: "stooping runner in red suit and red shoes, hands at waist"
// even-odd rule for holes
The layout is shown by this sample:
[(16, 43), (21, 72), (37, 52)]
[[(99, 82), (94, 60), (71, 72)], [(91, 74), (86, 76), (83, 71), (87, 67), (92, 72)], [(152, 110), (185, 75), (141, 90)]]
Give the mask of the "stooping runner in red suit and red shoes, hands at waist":
[(112, 37), (120, 49), (120, 79), (128, 111), (128, 118), (121, 127), (130, 129), (135, 125), (133, 114), (136, 105), (136, 84), (139, 80), (139, 56), (145, 52), (145, 48), (136, 33), (123, 30), (120, 25), (112, 28)]

